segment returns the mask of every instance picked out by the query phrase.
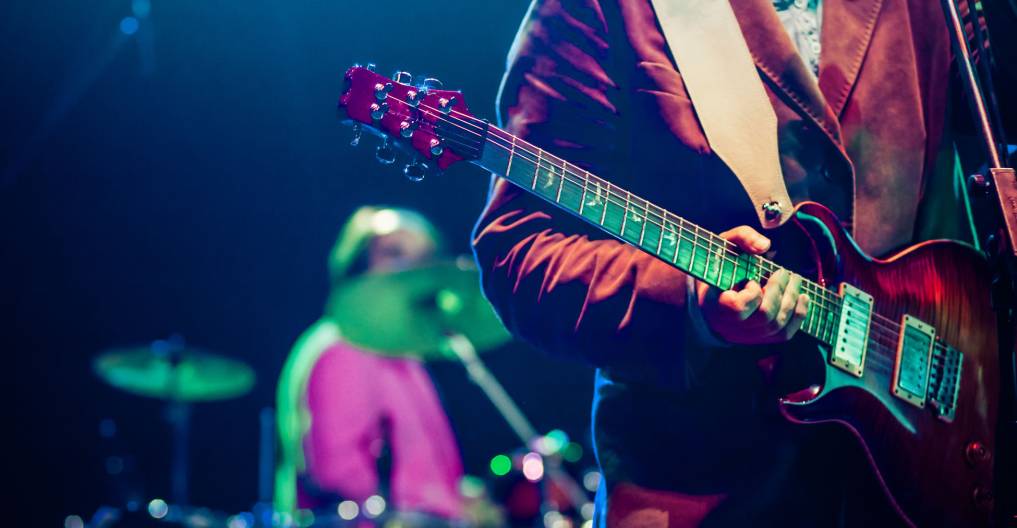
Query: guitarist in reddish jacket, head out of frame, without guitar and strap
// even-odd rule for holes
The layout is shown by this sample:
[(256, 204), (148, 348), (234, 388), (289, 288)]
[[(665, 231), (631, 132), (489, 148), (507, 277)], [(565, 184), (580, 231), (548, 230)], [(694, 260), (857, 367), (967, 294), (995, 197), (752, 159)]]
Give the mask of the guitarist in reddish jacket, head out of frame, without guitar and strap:
[[(503, 124), (744, 251), (770, 251), (780, 244), (707, 140), (653, 4), (536, 0), (510, 53)], [(793, 202), (824, 203), (873, 255), (973, 239), (939, 2), (730, 5)], [(778, 414), (777, 397), (814, 374), (761, 353), (798, 330), (798, 278), (711, 290), (500, 179), (474, 249), (515, 334), (598, 367), (598, 526), (901, 524), (856, 443)]]

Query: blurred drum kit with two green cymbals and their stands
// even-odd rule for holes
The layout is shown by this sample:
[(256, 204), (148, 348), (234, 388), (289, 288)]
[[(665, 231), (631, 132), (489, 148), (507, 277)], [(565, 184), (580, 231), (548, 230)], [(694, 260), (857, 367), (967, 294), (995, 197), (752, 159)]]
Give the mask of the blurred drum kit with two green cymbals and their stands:
[[(536, 518), (542, 518), (545, 521), (542, 524), (550, 520), (553, 528), (578, 526), (584, 519), (589, 519), (592, 507), (587, 491), (561, 467), (562, 448), (569, 443), (561, 442), (560, 431), (548, 436), (539, 434), (480, 358), (479, 352), (506, 343), (511, 336), (484, 299), (479, 284), (475, 266), (471, 259), (464, 257), (402, 272), (363, 275), (334, 290), (326, 315), (343, 330), (345, 340), (363, 349), (421, 361), (461, 362), (470, 379), (490, 399), (521, 442), (521, 448), (514, 457), (515, 463), (502, 455), (504, 468), (494, 471), (492, 461), (492, 471), (503, 475), (515, 470), (518, 475), (525, 474), (526, 480), (531, 483), (543, 480), (538, 491), (542, 517), (538, 515)], [(271, 479), (275, 449), (275, 423), (271, 411), (261, 417), (259, 465), (266, 467), (259, 468), (259, 480), (262, 482), (258, 486), (260, 496), (257, 505), (251, 512), (232, 516), (193, 507), (188, 502), (187, 489), (191, 406), (246, 395), (254, 386), (254, 370), (236, 359), (187, 346), (180, 338), (156, 341), (146, 346), (107, 350), (95, 359), (94, 369), (102, 380), (116, 389), (165, 403), (173, 441), (172, 492), (170, 502), (154, 500), (146, 509), (138, 505), (101, 509), (91, 522), (81, 523), (81, 526), (133, 526), (137, 524), (138, 517), (144, 518), (146, 523), (155, 523), (155, 526), (194, 528), (297, 524), (365, 526), (364, 522), (385, 526), (414, 524), (407, 522), (412, 517), (399, 515), (373, 520), (346, 519), (346, 516), (340, 516), (342, 519), (322, 519), (319, 516), (313, 524), (309, 524), (306, 519), (298, 523), (272, 512), (271, 496), (266, 496), (271, 495), (272, 484), (266, 480)], [(534, 464), (540, 466), (537, 478), (532, 478)], [(528, 470), (530, 473), (527, 473)], [(474, 480), (474, 494), (475, 483)], [(546, 512), (548, 508), (553, 511)], [(583, 516), (577, 515), (575, 520), (559, 513), (578, 513), (581, 510)], [(488, 516), (488, 521), (491, 518)], [(384, 519), (395, 521), (380, 522)], [(505, 524), (503, 515), (500, 519), (500, 522), (476, 524)], [(562, 523), (562, 520), (567, 522)], [(551, 526), (548, 525), (548, 528)]]

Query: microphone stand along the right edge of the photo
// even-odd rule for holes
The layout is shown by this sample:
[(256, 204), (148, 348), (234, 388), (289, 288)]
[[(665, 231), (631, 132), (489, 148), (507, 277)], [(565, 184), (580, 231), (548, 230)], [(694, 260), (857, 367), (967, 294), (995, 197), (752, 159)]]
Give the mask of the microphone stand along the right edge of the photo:
[[(993, 93), (992, 52), (985, 46), (989, 36), (983, 35), (978, 23), (978, 3), (969, 0), (969, 15), (978, 47), (979, 63), (976, 65), (964, 33), (958, 0), (942, 0), (947, 25), (953, 40), (954, 57), (961, 75), (964, 92), (984, 148), (988, 170), (970, 177), (975, 195), (996, 196), (999, 209), (990, 207), (997, 217), (1002, 215), (989, 230), (984, 247), (992, 259), (993, 305), (1000, 329), (1000, 415), (997, 430), (996, 457), (996, 515), (999, 526), (1017, 526), (1017, 175), (1006, 167), (1007, 142)], [(975, 68), (978, 68), (976, 72)], [(979, 73), (981, 75), (979, 79)], [(982, 86), (986, 86), (982, 91)], [(988, 96), (986, 97), (986, 93)], [(1002, 153), (1002, 154), (1001, 154)], [(998, 218), (998, 217), (997, 217)]]

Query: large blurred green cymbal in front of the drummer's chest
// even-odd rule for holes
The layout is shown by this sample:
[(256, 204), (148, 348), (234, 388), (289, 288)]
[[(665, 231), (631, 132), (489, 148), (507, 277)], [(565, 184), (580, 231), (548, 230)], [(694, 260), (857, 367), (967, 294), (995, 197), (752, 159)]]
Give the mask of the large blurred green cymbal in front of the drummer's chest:
[(455, 357), (446, 351), (450, 334), (466, 336), (477, 350), (510, 339), (466, 257), (351, 279), (333, 290), (326, 315), (350, 343), (425, 361)]

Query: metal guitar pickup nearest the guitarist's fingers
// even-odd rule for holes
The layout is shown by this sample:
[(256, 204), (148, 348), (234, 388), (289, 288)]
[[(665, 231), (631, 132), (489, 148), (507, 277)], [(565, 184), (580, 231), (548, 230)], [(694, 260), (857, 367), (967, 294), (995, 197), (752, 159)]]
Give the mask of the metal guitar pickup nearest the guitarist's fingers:
[(843, 302), (830, 364), (861, 377), (873, 318), (873, 296), (846, 283), (840, 285), (840, 296)]

